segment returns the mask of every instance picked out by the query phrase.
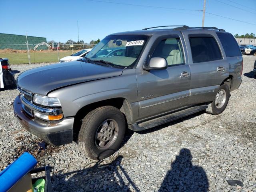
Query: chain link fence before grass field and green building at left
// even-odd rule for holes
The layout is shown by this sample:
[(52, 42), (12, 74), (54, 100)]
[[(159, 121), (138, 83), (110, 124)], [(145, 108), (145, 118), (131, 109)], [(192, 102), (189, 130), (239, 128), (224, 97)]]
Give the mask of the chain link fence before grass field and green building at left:
[(63, 57), (94, 46), (95, 44), (0, 44), (0, 58), (9, 58), (10, 64), (59, 62)]

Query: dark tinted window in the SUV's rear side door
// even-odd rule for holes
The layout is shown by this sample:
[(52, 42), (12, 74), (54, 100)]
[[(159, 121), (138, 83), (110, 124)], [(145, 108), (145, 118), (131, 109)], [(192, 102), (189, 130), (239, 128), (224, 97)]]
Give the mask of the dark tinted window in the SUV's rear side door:
[(222, 59), (220, 48), (213, 37), (190, 37), (193, 62), (206, 62)]

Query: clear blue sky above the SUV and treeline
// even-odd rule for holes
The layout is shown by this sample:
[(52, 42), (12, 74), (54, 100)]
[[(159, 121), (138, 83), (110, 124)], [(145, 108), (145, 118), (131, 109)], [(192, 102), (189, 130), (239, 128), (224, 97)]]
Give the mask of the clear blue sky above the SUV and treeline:
[[(195, 10), (203, 5), (204, 0), (0, 0), (0, 33), (78, 41), (78, 21), (79, 40), (90, 42), (152, 26), (202, 26), (202, 11)], [(204, 26), (256, 34), (256, 0), (206, 0), (206, 12), (211, 14), (205, 14)]]

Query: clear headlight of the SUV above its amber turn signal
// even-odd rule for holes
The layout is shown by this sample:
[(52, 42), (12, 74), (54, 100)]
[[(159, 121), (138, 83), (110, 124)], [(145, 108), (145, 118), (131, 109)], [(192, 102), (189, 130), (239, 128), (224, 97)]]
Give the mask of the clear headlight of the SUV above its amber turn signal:
[(34, 94), (33, 101), (34, 101), (34, 103), (42, 105), (42, 106), (49, 106), (49, 107), (61, 106), (60, 100), (58, 98), (40, 96), (38, 94)]

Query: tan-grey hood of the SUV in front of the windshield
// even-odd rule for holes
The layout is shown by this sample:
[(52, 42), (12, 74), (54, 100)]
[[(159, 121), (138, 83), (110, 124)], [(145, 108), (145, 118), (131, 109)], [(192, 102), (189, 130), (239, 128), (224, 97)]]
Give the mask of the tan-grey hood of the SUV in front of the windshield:
[(27, 70), (18, 76), (16, 83), (22, 90), (47, 95), (64, 86), (120, 76), (122, 72), (120, 68), (71, 61)]

